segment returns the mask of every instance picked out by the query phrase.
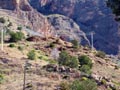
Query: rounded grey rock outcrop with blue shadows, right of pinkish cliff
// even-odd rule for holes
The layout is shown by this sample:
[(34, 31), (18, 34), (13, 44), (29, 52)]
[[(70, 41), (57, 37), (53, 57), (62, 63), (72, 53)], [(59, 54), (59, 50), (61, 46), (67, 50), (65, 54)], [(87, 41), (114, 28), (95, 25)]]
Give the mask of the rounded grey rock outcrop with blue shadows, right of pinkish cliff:
[(70, 18), (63, 15), (53, 14), (48, 17), (49, 22), (54, 26), (58, 36), (66, 41), (77, 39), (82, 44), (90, 45), (85, 33), (80, 30), (79, 26)]

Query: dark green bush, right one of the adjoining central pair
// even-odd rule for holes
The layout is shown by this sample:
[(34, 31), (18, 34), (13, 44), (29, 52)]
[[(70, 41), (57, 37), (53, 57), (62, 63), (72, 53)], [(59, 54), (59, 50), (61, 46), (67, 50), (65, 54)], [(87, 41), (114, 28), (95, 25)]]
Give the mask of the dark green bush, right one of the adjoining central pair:
[(92, 60), (86, 56), (86, 55), (82, 55), (78, 57), (80, 65), (88, 65), (90, 68), (92, 68)]

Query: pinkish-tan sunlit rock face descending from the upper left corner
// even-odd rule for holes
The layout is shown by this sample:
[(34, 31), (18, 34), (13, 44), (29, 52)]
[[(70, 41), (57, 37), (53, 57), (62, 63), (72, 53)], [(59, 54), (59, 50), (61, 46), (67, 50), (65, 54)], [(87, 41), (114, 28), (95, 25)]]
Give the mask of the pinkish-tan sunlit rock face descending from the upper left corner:
[(41, 36), (45, 36), (45, 34), (50, 36), (52, 34), (52, 29), (54, 28), (50, 25), (47, 18), (34, 10), (28, 0), (0, 0), (0, 8), (0, 15), (5, 12), (13, 18), (18, 18), (16, 23), (27, 27), (26, 31), (29, 33), (34, 30), (40, 33)]

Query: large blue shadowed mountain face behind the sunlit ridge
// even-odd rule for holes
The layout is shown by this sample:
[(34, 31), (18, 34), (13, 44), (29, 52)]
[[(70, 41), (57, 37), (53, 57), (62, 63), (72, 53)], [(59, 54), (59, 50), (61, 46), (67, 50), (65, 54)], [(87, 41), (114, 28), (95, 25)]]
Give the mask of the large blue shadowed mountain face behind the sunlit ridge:
[[(120, 44), (118, 25), (106, 0), (29, 0), (43, 14), (62, 14), (72, 18), (85, 33), (94, 31), (94, 45), (109, 54), (117, 54)], [(90, 37), (88, 36), (90, 39)]]

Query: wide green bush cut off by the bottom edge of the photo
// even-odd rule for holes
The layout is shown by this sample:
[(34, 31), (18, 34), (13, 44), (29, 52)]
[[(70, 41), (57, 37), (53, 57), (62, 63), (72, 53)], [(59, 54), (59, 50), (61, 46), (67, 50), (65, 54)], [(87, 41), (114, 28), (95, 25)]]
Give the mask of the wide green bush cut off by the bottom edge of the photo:
[(70, 90), (97, 90), (97, 84), (90, 79), (84, 81), (75, 80), (70, 85)]

